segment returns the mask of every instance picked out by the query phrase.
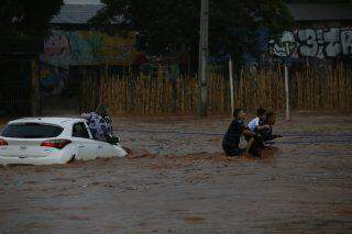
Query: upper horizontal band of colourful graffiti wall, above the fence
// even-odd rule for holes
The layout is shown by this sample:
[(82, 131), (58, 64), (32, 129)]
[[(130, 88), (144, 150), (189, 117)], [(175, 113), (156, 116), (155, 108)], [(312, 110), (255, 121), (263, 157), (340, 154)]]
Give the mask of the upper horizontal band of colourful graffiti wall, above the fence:
[(135, 54), (135, 36), (109, 36), (95, 31), (52, 31), (44, 42), (41, 62), (66, 67), (109, 62), (129, 64)]

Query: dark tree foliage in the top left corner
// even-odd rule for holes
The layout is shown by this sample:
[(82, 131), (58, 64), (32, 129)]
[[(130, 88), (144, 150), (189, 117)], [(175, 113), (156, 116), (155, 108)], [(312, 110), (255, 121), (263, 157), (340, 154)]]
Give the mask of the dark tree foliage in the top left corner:
[(63, 4), (63, 0), (1, 0), (0, 36), (47, 35), (51, 19)]

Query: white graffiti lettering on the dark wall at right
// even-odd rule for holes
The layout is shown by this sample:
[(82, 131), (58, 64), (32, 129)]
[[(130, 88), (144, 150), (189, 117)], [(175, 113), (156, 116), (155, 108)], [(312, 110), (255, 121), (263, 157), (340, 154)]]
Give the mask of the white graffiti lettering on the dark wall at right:
[(352, 56), (352, 29), (305, 29), (285, 32), (277, 43), (270, 42), (271, 54), (293, 58), (337, 58)]

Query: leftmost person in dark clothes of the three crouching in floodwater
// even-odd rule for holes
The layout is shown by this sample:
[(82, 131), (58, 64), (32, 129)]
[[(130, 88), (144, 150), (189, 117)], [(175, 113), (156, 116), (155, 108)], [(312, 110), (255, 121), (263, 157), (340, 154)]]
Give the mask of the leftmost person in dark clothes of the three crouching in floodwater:
[[(254, 142), (253, 136), (255, 136), (255, 133), (249, 131), (245, 126), (245, 116), (246, 115), (242, 109), (235, 109), (233, 111), (234, 119), (231, 122), (222, 141), (222, 148), (227, 156), (241, 156), (244, 153), (249, 154), (250, 148), (252, 147)], [(240, 138), (242, 134), (251, 138), (245, 151), (240, 148)]]

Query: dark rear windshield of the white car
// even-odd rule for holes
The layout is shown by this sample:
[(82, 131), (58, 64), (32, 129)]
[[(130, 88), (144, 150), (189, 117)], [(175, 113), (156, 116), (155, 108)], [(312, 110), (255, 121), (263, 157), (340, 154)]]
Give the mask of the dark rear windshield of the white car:
[(41, 123), (16, 123), (7, 125), (1, 136), (13, 138), (50, 138), (56, 137), (64, 131), (63, 127)]

